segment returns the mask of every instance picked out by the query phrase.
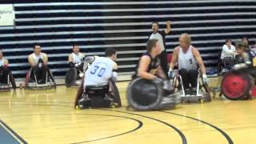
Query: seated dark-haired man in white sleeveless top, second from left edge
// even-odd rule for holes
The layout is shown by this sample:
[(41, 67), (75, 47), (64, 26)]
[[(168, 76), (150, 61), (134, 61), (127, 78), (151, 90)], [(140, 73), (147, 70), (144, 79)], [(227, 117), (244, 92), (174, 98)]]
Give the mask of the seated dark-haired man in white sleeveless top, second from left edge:
[[(47, 66), (48, 56), (45, 53), (41, 52), (41, 46), (36, 44), (34, 45), (34, 53), (30, 54), (28, 57), (29, 64), (32, 68), (30, 74), (30, 82), (38, 82), (38, 84), (46, 83), (46, 73), (49, 68)], [(34, 78), (35, 75), (35, 78)]]

